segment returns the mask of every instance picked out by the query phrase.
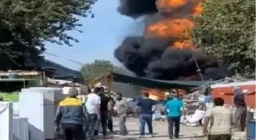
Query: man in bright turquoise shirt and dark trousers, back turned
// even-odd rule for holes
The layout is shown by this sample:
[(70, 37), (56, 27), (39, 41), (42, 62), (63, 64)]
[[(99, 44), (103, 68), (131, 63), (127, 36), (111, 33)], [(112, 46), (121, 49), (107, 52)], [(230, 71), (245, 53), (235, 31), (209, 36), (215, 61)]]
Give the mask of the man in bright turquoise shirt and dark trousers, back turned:
[(183, 107), (183, 102), (178, 98), (178, 94), (174, 95), (172, 100), (167, 101), (165, 108), (168, 115), (168, 133), (169, 138), (173, 138), (173, 128), (174, 137), (179, 137), (180, 132), (180, 122), (181, 122), (181, 108)]

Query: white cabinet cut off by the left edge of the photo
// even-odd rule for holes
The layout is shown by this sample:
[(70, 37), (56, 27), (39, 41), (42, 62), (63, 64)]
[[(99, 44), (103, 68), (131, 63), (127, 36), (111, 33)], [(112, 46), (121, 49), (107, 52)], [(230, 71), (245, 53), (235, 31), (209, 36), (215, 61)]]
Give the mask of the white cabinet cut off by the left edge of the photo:
[(0, 140), (12, 140), (11, 102), (0, 102)]

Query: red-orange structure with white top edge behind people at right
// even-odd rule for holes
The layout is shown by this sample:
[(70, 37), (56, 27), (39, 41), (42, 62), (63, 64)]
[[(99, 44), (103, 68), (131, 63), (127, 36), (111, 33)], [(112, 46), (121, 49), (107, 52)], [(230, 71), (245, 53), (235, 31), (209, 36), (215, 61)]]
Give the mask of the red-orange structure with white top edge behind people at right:
[(234, 95), (232, 90), (235, 86), (242, 88), (247, 106), (256, 107), (256, 81), (212, 85), (213, 98), (221, 97), (224, 99), (225, 104), (232, 105), (232, 97)]

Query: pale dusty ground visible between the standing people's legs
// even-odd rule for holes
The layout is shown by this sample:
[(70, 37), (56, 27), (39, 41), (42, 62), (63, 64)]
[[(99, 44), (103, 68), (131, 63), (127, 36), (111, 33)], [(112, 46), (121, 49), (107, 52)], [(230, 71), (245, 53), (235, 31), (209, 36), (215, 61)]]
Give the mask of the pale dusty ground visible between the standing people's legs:
[[(129, 130), (129, 135), (120, 136), (120, 135), (109, 135), (108, 139), (117, 139), (117, 140), (136, 140), (139, 138), (139, 123), (137, 119), (129, 118), (126, 121), (127, 129)], [(146, 126), (147, 127), (147, 126)], [(166, 140), (168, 139), (168, 131), (167, 131), (167, 122), (165, 121), (154, 121), (153, 122), (153, 131), (155, 133), (155, 138), (151, 138), (150, 135), (146, 135), (147, 140)], [(118, 120), (114, 119), (114, 131), (118, 131)], [(147, 128), (146, 128), (147, 132)], [(181, 125), (180, 132), (181, 140), (204, 140), (202, 127), (195, 126), (183, 126)], [(245, 140), (245, 132), (234, 132), (232, 134), (233, 140)]]

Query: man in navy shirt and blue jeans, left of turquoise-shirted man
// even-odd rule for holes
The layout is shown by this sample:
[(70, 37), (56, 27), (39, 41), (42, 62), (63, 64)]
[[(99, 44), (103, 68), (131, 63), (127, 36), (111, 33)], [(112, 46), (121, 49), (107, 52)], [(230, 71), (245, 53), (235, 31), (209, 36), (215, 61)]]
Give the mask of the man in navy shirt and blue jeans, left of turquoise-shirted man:
[(149, 126), (149, 133), (153, 137), (152, 127), (152, 107), (156, 104), (156, 101), (149, 98), (149, 92), (143, 94), (143, 98), (140, 98), (136, 104), (136, 108), (139, 112), (139, 138), (145, 135), (145, 125)]

